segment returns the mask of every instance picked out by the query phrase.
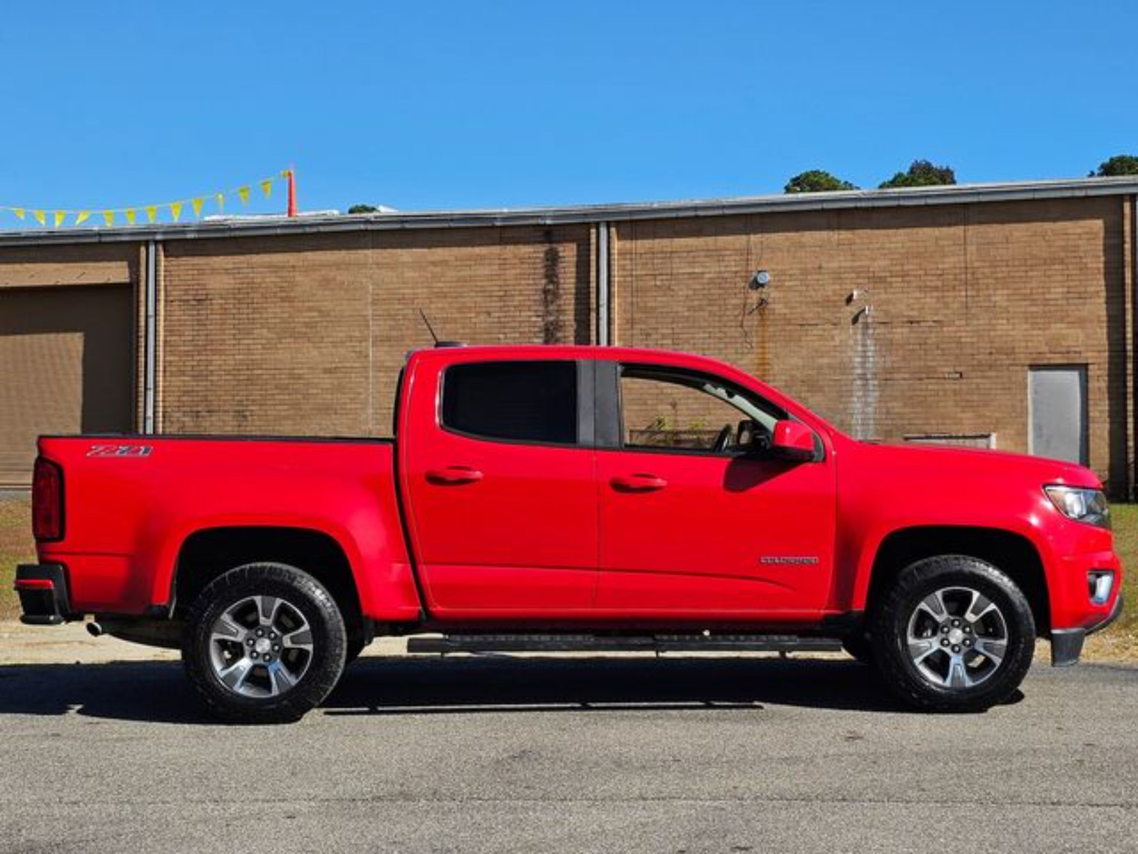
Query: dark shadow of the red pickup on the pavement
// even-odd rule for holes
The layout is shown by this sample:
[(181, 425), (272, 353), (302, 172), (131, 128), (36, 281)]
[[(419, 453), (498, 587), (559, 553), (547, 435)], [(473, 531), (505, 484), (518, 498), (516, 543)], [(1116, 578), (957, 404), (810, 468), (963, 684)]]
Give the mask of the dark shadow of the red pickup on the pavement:
[[(765, 704), (901, 712), (844, 659), (364, 657), (313, 715), (595, 711), (732, 714)], [(213, 723), (176, 662), (0, 666), (0, 715)], [(310, 715), (312, 716), (312, 715)]]

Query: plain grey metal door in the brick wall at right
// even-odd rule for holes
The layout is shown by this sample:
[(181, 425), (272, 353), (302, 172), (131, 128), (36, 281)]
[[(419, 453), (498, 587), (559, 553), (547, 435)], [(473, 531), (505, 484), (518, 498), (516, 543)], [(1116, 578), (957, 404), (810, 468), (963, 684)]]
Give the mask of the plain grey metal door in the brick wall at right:
[(1028, 369), (1029, 450), (1087, 465), (1087, 366)]

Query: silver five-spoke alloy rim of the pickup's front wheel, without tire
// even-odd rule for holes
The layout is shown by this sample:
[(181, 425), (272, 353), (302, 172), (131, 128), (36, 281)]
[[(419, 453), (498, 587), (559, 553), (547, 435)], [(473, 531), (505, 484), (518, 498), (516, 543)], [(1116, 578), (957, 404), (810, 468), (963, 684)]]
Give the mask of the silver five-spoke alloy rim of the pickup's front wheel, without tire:
[(906, 633), (909, 658), (938, 688), (974, 688), (995, 675), (1007, 654), (1007, 621), (972, 588), (942, 588), (913, 610)]

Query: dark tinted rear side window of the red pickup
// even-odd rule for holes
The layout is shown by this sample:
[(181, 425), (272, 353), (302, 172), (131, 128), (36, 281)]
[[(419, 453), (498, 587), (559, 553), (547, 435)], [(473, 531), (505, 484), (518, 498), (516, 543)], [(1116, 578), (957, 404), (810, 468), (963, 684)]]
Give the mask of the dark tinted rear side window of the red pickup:
[(577, 363), (471, 362), (443, 378), (443, 426), (502, 442), (577, 443)]

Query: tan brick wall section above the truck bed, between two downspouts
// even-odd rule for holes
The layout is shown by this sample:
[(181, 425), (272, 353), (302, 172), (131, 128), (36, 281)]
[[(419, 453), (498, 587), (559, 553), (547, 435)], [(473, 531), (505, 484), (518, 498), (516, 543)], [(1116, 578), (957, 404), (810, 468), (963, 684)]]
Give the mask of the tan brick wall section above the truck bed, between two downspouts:
[(592, 340), (588, 227), (171, 241), (163, 429), (388, 435), (404, 354)]

